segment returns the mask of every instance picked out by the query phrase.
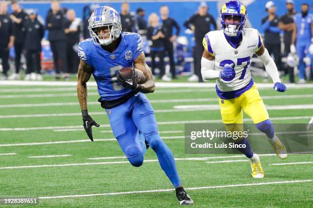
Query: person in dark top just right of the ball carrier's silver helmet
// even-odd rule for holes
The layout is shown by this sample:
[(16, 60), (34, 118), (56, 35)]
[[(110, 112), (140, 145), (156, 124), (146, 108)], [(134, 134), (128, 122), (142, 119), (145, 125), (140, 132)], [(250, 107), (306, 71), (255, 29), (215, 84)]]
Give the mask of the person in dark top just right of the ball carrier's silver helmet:
[(129, 13), (129, 4), (123, 3), (121, 6), (121, 23), (122, 23), (122, 31), (124, 32), (136, 32), (135, 25), (135, 15)]

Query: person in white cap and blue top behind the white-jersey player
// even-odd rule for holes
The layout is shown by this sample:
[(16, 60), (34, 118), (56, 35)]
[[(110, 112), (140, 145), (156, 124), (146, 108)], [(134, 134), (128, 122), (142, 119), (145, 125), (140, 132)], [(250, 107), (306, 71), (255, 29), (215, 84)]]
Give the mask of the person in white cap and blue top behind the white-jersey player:
[(278, 28), (279, 18), (276, 15), (276, 5), (274, 2), (269, 1), (265, 4), (267, 16), (262, 19), (262, 30), (264, 31), (264, 45), (269, 51), (270, 55), (274, 55), (274, 61), (278, 70), (281, 67), (281, 42), (280, 42), (280, 29)]

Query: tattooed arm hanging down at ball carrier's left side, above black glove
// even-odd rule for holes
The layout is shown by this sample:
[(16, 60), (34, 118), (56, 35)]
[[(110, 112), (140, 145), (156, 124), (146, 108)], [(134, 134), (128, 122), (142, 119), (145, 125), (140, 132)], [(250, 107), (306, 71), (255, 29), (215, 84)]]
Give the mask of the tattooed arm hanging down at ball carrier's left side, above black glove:
[(84, 61), (80, 60), (78, 66), (78, 80), (77, 80), (77, 96), (81, 110), (87, 110), (87, 85), (90, 79), (92, 68)]

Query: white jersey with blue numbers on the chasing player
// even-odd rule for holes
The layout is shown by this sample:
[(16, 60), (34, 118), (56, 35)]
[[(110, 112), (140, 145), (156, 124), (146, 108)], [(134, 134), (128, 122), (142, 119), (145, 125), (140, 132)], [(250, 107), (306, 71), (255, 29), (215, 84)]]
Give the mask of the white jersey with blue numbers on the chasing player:
[(252, 76), (249, 68), (251, 58), (262, 45), (261, 36), (256, 29), (242, 30), (242, 41), (238, 48), (233, 48), (228, 43), (222, 30), (207, 33), (203, 45), (215, 57), (214, 70), (222, 70), (226, 64), (233, 66), (235, 70), (234, 77), (216, 80), (220, 91), (239, 90), (251, 82)]

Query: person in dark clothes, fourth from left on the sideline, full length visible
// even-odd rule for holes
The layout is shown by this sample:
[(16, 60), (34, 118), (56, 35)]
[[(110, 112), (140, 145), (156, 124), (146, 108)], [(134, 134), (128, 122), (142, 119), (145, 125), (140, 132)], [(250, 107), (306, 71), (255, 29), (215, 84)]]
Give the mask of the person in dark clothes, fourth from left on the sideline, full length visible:
[[(48, 40), (50, 41), (51, 50), (53, 53), (53, 61), (56, 76), (55, 79), (60, 79), (60, 69), (63, 72), (63, 78), (69, 79), (67, 73), (68, 62), (66, 60), (66, 42), (65, 42), (65, 14), (60, 9), (58, 1), (51, 2), (51, 10), (48, 12), (46, 17), (46, 25), (49, 31)], [(61, 61), (61, 63), (60, 63)]]

